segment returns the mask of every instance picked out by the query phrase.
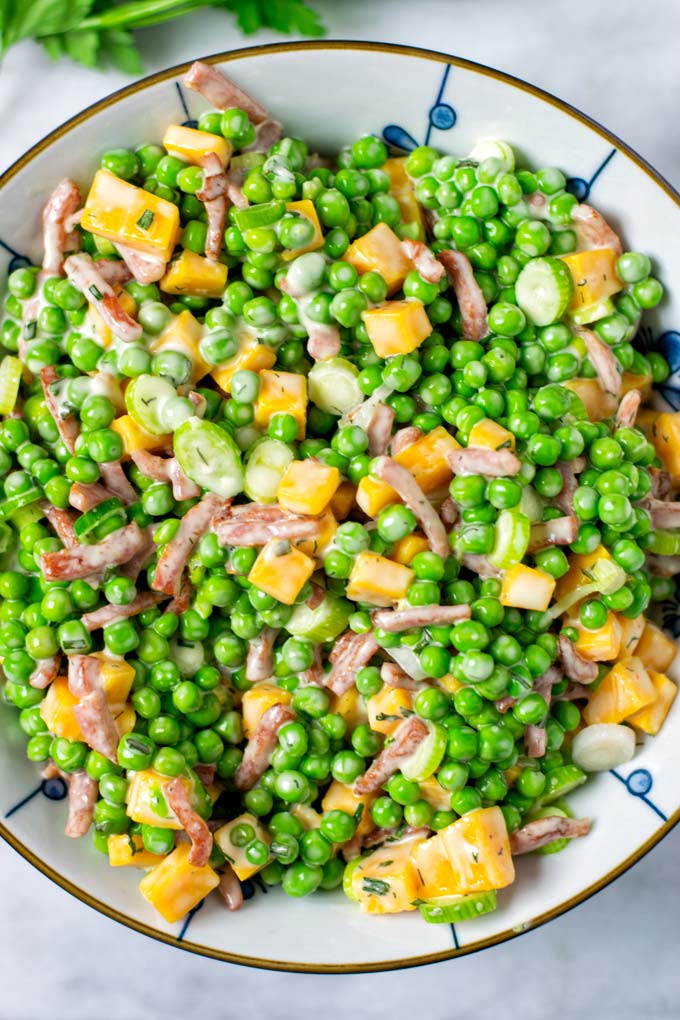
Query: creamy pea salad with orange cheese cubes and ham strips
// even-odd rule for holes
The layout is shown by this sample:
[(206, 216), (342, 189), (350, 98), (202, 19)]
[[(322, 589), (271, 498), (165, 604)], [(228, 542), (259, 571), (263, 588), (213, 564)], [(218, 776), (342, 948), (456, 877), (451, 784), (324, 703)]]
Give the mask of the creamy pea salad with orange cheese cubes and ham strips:
[(8, 277), (4, 699), (169, 923), (254, 876), (476, 917), (677, 693), (663, 287), (506, 142), (326, 158), (185, 84)]

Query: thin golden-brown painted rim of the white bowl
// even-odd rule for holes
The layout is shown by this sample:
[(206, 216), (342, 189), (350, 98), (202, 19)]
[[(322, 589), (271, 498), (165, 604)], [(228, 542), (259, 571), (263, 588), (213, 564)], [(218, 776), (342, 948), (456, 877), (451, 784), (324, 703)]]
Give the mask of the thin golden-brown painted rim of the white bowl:
[[(513, 88), (520, 90), (521, 92), (528, 93), (535, 98), (547, 103), (551, 106), (556, 107), (562, 113), (567, 114), (567, 116), (572, 117), (580, 121), (585, 126), (589, 128), (600, 138), (605, 139), (607, 142), (614, 145), (617, 149), (623, 152), (633, 163), (635, 163), (651, 181), (661, 188), (666, 195), (674, 202), (678, 207), (680, 207), (680, 194), (676, 189), (643, 156), (632, 149), (629, 145), (623, 142), (617, 135), (609, 131), (603, 124), (600, 124), (593, 117), (588, 116), (588, 114), (583, 113), (577, 107), (559, 99), (553, 93), (547, 92), (538, 86), (532, 85), (529, 82), (525, 82), (523, 79), (518, 78), (514, 74), (510, 74), (507, 71), (500, 70), (488, 64), (480, 63), (475, 60), (469, 60), (466, 57), (460, 57), (453, 54), (444, 53), (440, 50), (432, 50), (426, 47), (420, 46), (406, 46), (398, 43), (381, 43), (381, 42), (368, 42), (360, 40), (313, 40), (313, 41), (301, 41), (301, 42), (283, 42), (283, 43), (268, 43), (259, 46), (245, 46), (239, 49), (227, 50), (219, 53), (212, 53), (207, 56), (196, 57), (195, 59), (204, 60), (206, 63), (228, 63), (231, 60), (240, 60), (249, 56), (267, 56), (269, 54), (276, 53), (290, 53), (299, 52), (305, 50), (354, 50), (358, 52), (378, 52), (396, 54), (399, 56), (415, 57), (421, 60), (427, 60), (434, 63), (446, 63), (453, 65), (455, 67), (460, 67), (465, 70), (472, 71), (477, 74), (482, 74), (486, 78), (494, 79), (504, 85), (509, 85)], [(121, 89), (115, 92), (109, 93), (102, 99), (95, 103), (86, 106), (80, 113), (74, 114), (67, 120), (64, 120), (61, 124), (55, 128), (53, 131), (48, 132), (43, 138), (41, 138), (35, 145), (33, 145), (23, 155), (19, 156), (14, 162), (12, 162), (7, 169), (0, 174), (0, 192), (2, 189), (19, 173), (24, 167), (27, 167), (36, 156), (44, 152), (46, 149), (52, 145), (55, 141), (63, 138), (74, 128), (96, 116), (98, 113), (108, 109), (109, 107), (115, 105), (120, 100), (126, 99), (128, 96), (135, 95), (138, 92), (142, 92), (151, 86), (157, 85), (161, 82), (166, 82), (170, 79), (176, 78), (177, 75), (184, 73), (192, 64), (192, 60), (181, 61), (178, 64), (174, 64), (171, 67), (164, 68), (159, 71), (155, 71), (152, 74), (145, 75), (130, 85), (123, 86)], [(16, 851), (25, 861), (32, 864), (35, 868), (41, 871), (44, 875), (50, 878), (56, 885), (59, 885), (66, 892), (69, 892), (76, 900), (86, 904), (89, 907), (94, 908), (100, 914), (104, 914), (106, 917), (117, 921), (119, 924), (124, 925), (134, 931), (140, 932), (141, 934), (147, 935), (150, 938), (154, 938), (156, 941), (165, 942), (168, 946), (173, 946), (177, 949), (186, 950), (189, 953), (193, 953), (197, 956), (208, 957), (213, 960), (219, 960), (225, 963), (239, 964), (241, 966), (253, 967), (260, 970), (275, 970), (275, 971), (286, 971), (290, 973), (302, 973), (302, 974), (360, 974), (360, 973), (372, 973), (378, 971), (390, 971), (390, 970), (404, 970), (411, 967), (422, 967), (428, 964), (440, 963), (447, 960), (453, 960), (459, 957), (468, 956), (472, 953), (478, 953), (481, 950), (488, 949), (491, 946), (499, 946), (502, 942), (509, 941), (511, 938), (515, 938), (518, 935), (524, 934), (526, 931), (534, 931), (541, 925), (552, 921), (568, 911), (577, 907), (579, 904), (584, 903), (590, 897), (599, 892), (606, 886), (610, 885), (615, 881), (620, 875), (628, 871), (629, 868), (633, 867), (638, 861), (642, 859), (653, 847), (656, 847), (661, 840), (666, 836), (671, 829), (673, 829), (677, 823), (680, 821), (680, 807), (675, 811), (670, 818), (668, 818), (663, 825), (661, 825), (656, 832), (648, 839), (646, 839), (641, 846), (639, 846), (632, 854), (630, 854), (624, 861), (622, 861), (616, 868), (613, 868), (607, 874), (603, 875), (596, 881), (591, 882), (584, 889), (581, 889), (575, 896), (570, 897), (563, 903), (559, 904), (557, 907), (551, 910), (544, 911), (537, 917), (533, 918), (526, 925), (521, 928), (508, 928), (504, 931), (498, 932), (494, 935), (489, 935), (486, 938), (479, 939), (478, 941), (466, 944), (464, 946), (459, 946), (456, 939), (456, 946), (452, 950), (444, 950), (438, 953), (429, 953), (423, 956), (411, 956), (404, 959), (394, 959), (384, 961), (372, 961), (365, 964), (311, 964), (311, 963), (292, 963), (289, 961), (281, 960), (269, 960), (262, 957), (252, 957), (244, 956), (238, 953), (229, 953), (223, 950), (212, 949), (209, 946), (202, 946), (198, 942), (193, 942), (184, 939), (184, 932), (178, 935), (169, 934), (154, 928), (143, 921), (138, 921), (137, 919), (123, 914), (121, 911), (117, 910), (115, 907), (111, 907), (103, 901), (91, 896), (89, 892), (82, 888), (79, 888), (69, 878), (60, 875), (54, 868), (48, 864), (46, 861), (42, 860), (37, 854), (35, 854), (29, 847), (27, 847), (21, 840), (14, 835), (1, 821), (0, 821), (0, 837), (8, 844), (13, 850)], [(456, 938), (456, 936), (454, 935)]]

